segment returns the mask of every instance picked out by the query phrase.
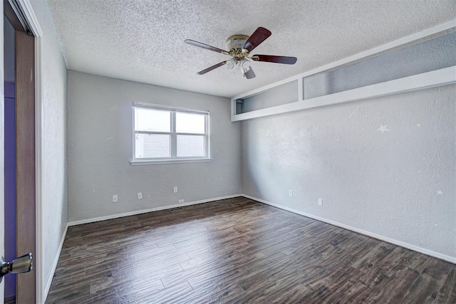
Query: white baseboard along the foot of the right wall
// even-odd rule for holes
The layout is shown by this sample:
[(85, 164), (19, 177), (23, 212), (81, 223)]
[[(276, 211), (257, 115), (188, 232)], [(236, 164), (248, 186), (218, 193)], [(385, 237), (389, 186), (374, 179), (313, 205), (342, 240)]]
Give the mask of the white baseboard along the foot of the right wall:
[(279, 204), (274, 204), (274, 203), (271, 203), (270, 201), (265, 201), (264, 199), (258, 199), (257, 197), (254, 197), (254, 196), (249, 196), (247, 194), (241, 194), (241, 195), (244, 196), (247, 199), (253, 199), (254, 201), (259, 201), (260, 203), (267, 204), (269, 206), (274, 206), (274, 207), (279, 208), (279, 209), (283, 209), (283, 210), (286, 210), (286, 211), (293, 212), (294, 214), (299, 214), (299, 215), (302, 215), (302, 216), (309, 217), (311, 219), (316, 219), (317, 221), (323, 221), (323, 222), (325, 222), (327, 224), (331, 224), (333, 226), (338, 226), (338, 227), (341, 227), (343, 229), (347, 229), (347, 230), (356, 232), (358, 234), (363, 234), (365, 236), (370, 236), (370, 237), (372, 237), (374, 239), (378, 239), (380, 241), (385, 241), (387, 243), (392, 243), (393, 245), (401, 246), (403, 248), (407, 248), (407, 249), (410, 249), (410, 250), (413, 250), (413, 251), (416, 251), (416, 252), (419, 252), (419, 253), (423, 253), (423, 254), (425, 254), (427, 256), (432, 256), (433, 258), (440, 258), (440, 260), (456, 264), (456, 257), (447, 256), (445, 254), (438, 253), (438, 252), (435, 252), (435, 251), (431, 251), (431, 250), (428, 250), (426, 248), (421, 248), (421, 247), (412, 245), (410, 243), (404, 243), (403, 241), (390, 239), (390, 238), (388, 238), (386, 236), (380, 236), (379, 234), (373, 234), (372, 232), (365, 231), (363, 229), (358, 229), (358, 228), (355, 228), (355, 227), (352, 227), (352, 226), (348, 226), (346, 224), (341, 224), (341, 223), (339, 223), (337, 221), (331, 221), (330, 219), (325, 219), (323, 217), (316, 216), (314, 214), (308, 214), (308, 213), (303, 212), (303, 211), (299, 211), (299, 210), (296, 210), (296, 209), (291, 209), (289, 207), (281, 206)]

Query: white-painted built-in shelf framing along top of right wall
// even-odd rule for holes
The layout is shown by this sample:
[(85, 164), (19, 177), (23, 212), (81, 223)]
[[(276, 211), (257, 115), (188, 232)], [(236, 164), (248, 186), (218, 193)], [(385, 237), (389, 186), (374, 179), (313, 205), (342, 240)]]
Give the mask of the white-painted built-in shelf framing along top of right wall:
[[(343, 90), (338, 93), (318, 96), (315, 98), (304, 99), (303, 94), (303, 83), (304, 78), (306, 77), (316, 75), (317, 73), (322, 73), (328, 70), (334, 70), (336, 68), (346, 66), (347, 64), (363, 60), (363, 58), (366, 59), (370, 56), (374, 56), (375, 54), (383, 53), (393, 48), (399, 48), (401, 46), (408, 45), (409, 43), (414, 43), (415, 41), (420, 41), (421, 39), (426, 37), (436, 36), (445, 31), (454, 31), (455, 28), (456, 20), (449, 21), (447, 23), (442, 23), (439, 26), (435, 26), (420, 33), (415, 33), (413, 35), (400, 38), (397, 41), (387, 43), (383, 46), (373, 48), (371, 50), (356, 54), (355, 56), (351, 56), (349, 58), (344, 58), (341, 61), (336, 61), (334, 63), (324, 65), (320, 68), (310, 70), (309, 72), (302, 73), (301, 75), (296, 75), (292, 78), (281, 80), (277, 83), (268, 85), (264, 88), (253, 90), (249, 93), (234, 96), (234, 98), (232, 98), (231, 100), (231, 120), (232, 122), (249, 120), (257, 117), (264, 117), (269, 115), (276, 115), (311, 108), (319, 108), (327, 105), (336, 105), (338, 103), (349, 103), (357, 100), (366, 100), (369, 98), (404, 93), (413, 90), (423, 90), (425, 88), (433, 88), (440, 85), (450, 85), (452, 83), (456, 83), (456, 65), (452, 65), (446, 68), (438, 68), (425, 73), (418, 73), (403, 78), (388, 80), (385, 82), (366, 85), (359, 88), (353, 88), (351, 90)], [(269, 108), (261, 108), (259, 110), (252, 110), (250, 112), (242, 112), (237, 114), (237, 101), (242, 100), (242, 102), (244, 102), (244, 100), (247, 100), (248, 102), (249, 98), (254, 98), (255, 96), (261, 95), (270, 90), (274, 90), (281, 85), (284, 85), (286, 83), (292, 83), (295, 81), (297, 82), (296, 90), (298, 91), (298, 98), (296, 101), (291, 103), (284, 103), (282, 105), (271, 106)]]

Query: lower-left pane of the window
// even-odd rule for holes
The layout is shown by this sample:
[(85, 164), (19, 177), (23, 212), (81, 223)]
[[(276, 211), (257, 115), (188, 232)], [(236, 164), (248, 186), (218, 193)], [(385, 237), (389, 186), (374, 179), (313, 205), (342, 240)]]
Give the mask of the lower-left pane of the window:
[(170, 135), (135, 134), (135, 158), (170, 156)]

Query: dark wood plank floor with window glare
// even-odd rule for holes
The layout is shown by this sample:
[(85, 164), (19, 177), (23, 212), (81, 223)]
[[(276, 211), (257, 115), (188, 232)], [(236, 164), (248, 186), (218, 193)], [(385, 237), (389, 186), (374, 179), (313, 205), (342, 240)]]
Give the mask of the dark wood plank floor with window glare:
[(46, 303), (456, 303), (456, 265), (239, 197), (70, 227)]

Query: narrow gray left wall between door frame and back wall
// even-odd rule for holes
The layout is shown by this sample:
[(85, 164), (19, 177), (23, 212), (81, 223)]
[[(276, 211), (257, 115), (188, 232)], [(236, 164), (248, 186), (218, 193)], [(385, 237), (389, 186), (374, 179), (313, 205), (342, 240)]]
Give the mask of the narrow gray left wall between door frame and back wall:
[[(31, 1), (42, 36), (42, 218), (43, 284), (51, 276), (67, 223), (66, 65), (43, 0)], [(61, 224), (59, 224), (61, 217)], [(44, 287), (44, 286), (43, 286)]]

